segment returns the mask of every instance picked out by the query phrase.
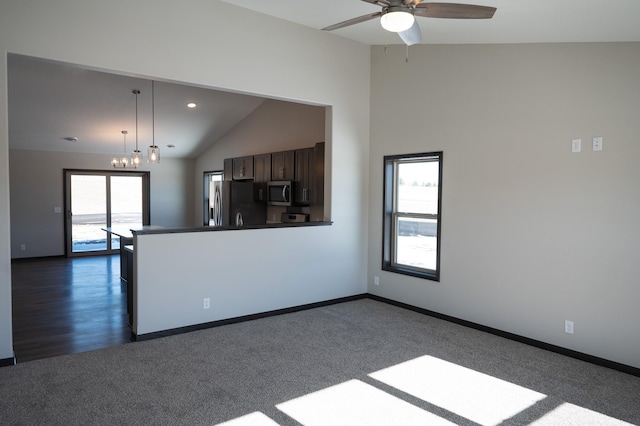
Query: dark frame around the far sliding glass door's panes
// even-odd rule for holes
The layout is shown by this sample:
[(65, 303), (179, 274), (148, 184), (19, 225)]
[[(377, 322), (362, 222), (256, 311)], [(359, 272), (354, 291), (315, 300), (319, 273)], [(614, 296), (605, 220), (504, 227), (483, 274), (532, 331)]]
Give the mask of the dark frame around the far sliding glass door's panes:
[[(71, 247), (71, 176), (72, 175), (92, 175), (92, 176), (106, 176), (106, 191), (107, 199), (107, 222), (111, 218), (111, 203), (109, 202), (111, 197), (111, 176), (140, 176), (142, 177), (142, 224), (149, 225), (151, 223), (151, 172), (138, 171), (138, 170), (87, 170), (87, 169), (63, 169), (64, 175), (64, 252), (66, 257), (80, 257), (80, 256), (97, 256), (105, 254), (116, 254), (118, 249), (107, 250), (94, 250), (86, 252), (73, 252)], [(107, 247), (109, 247), (109, 238), (107, 238)]]

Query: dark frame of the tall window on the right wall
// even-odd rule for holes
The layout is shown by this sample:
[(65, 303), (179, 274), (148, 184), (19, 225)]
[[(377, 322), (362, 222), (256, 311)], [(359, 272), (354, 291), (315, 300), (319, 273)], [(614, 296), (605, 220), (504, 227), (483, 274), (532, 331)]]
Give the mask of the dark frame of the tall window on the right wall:
[[(436, 214), (397, 211), (398, 167), (402, 162), (417, 162), (420, 159), (438, 162), (438, 210)], [(382, 269), (403, 275), (410, 275), (432, 281), (440, 281), (440, 248), (442, 245), (442, 168), (443, 152), (387, 155), (384, 157), (383, 221), (382, 221)], [(436, 221), (436, 266), (434, 269), (418, 268), (396, 262), (398, 219), (420, 218)]]

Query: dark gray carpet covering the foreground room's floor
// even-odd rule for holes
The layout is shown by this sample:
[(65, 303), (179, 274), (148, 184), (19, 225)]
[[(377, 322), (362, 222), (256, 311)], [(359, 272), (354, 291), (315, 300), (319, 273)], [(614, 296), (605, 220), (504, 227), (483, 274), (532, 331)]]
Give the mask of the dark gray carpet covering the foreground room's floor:
[(502, 424), (640, 424), (638, 377), (369, 299), (2, 368), (0, 424), (298, 425), (276, 405), (353, 379), (479, 424), (369, 376), (425, 355), (544, 394)]

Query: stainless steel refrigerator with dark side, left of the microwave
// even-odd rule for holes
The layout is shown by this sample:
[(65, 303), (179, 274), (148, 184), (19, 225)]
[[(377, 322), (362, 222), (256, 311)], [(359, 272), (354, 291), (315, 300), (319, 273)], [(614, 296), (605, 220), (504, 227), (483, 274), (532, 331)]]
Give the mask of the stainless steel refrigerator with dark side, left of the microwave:
[(255, 201), (253, 182), (218, 181), (209, 185), (209, 226), (267, 223), (267, 205)]

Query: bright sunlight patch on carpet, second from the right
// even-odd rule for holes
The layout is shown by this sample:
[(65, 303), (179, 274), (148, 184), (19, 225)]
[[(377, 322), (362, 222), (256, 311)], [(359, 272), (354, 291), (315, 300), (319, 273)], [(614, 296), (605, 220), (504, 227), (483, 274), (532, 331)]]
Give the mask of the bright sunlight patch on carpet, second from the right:
[(497, 425), (546, 395), (431, 356), (369, 374), (481, 425)]

